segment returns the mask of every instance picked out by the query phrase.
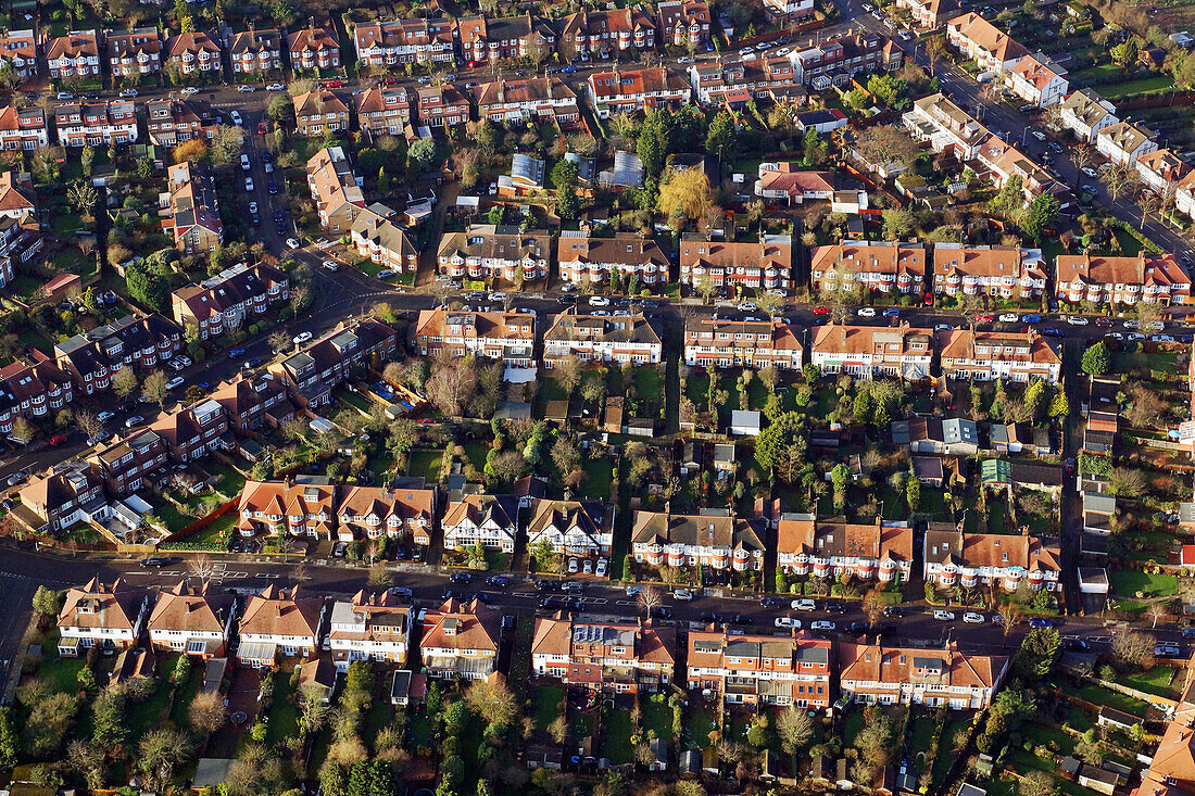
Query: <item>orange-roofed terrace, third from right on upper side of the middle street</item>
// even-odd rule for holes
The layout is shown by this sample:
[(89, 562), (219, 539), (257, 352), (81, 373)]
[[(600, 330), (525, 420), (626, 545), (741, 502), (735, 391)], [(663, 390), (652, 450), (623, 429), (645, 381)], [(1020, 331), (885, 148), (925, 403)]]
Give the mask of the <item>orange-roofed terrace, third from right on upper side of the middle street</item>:
[(920, 296), (929, 259), (921, 244), (844, 240), (810, 255), (810, 284), (817, 293), (877, 290)]

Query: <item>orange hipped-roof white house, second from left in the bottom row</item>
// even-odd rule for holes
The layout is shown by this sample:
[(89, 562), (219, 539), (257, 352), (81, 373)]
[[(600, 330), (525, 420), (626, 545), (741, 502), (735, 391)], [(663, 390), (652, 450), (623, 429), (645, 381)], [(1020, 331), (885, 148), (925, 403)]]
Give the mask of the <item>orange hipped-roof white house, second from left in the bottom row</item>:
[(157, 593), (146, 627), (159, 651), (209, 660), (228, 654), (238, 596), (209, 581), (191, 588), (186, 581)]

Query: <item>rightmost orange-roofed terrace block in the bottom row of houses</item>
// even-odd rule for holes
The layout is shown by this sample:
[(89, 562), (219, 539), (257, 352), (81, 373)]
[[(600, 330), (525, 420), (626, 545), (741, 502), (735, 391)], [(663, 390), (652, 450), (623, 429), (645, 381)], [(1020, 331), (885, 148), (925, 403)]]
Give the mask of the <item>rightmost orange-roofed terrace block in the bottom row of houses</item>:
[(992, 704), (1009, 673), (1004, 655), (943, 649), (841, 643), (838, 653), (842, 696), (864, 704), (917, 704), (982, 710)]

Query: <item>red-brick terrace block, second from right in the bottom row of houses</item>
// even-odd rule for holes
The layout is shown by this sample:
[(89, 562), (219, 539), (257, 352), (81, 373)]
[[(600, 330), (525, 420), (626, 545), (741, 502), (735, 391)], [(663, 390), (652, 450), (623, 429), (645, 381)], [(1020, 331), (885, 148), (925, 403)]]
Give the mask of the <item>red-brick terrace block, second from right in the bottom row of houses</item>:
[(828, 708), (833, 644), (793, 631), (790, 636), (735, 633), (723, 627), (688, 633), (690, 691), (728, 705)]

